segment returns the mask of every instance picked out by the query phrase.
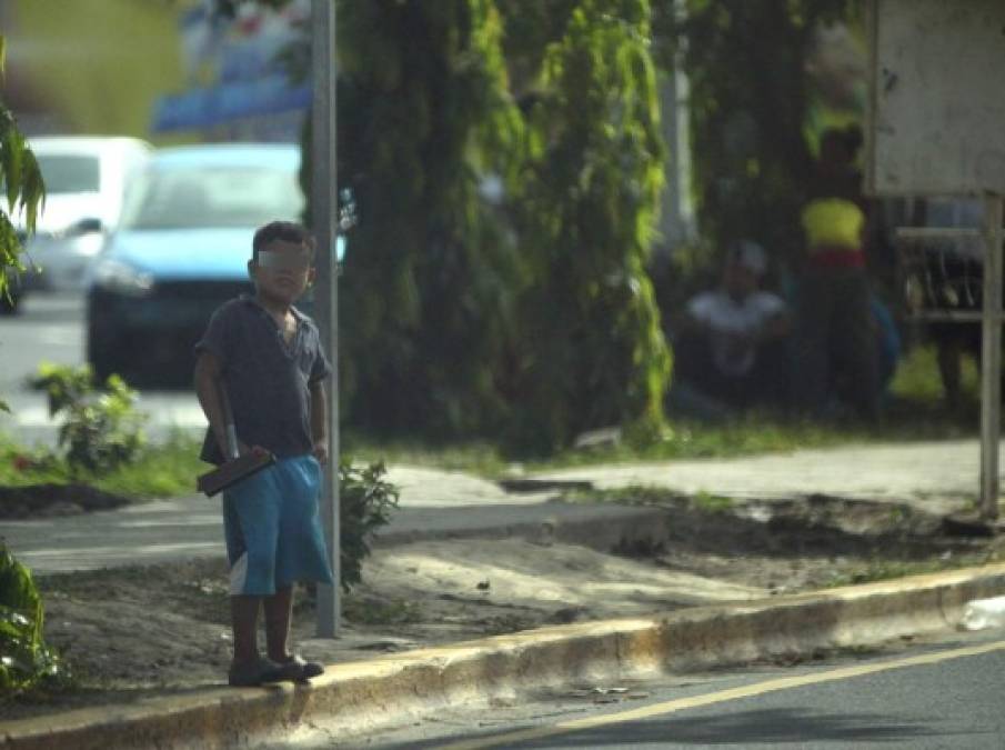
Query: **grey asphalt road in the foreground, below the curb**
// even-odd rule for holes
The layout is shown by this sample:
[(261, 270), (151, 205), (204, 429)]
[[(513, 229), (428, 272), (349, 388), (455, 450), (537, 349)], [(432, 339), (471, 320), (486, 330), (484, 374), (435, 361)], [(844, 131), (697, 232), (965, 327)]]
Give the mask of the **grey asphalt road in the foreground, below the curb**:
[[(478, 712), (441, 712), (365, 738), (383, 750), (443, 748), (1005, 748), (1005, 629), (629, 686)], [(601, 700), (605, 700), (601, 698)], [(333, 740), (335, 738), (332, 738)], [(328, 747), (362, 747), (335, 740)]]

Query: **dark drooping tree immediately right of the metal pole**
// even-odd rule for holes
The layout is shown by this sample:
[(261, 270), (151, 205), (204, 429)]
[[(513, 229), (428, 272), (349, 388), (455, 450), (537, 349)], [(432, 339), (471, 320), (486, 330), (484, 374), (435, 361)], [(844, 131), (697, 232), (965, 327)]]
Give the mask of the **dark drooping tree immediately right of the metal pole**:
[(340, 172), (361, 221), (340, 287), (346, 418), (498, 427), (522, 260), (480, 190), (511, 181), (520, 113), (490, 0), (339, 4)]

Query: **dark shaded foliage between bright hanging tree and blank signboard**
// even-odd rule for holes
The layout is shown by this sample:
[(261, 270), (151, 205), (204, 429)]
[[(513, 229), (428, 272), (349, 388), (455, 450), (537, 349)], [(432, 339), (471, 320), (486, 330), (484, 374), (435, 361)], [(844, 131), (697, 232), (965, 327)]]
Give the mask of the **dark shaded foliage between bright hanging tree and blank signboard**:
[(812, 153), (807, 64), (822, 24), (861, 0), (676, 0), (654, 6), (660, 64), (682, 64), (691, 96), (694, 192), (715, 248), (752, 237), (791, 261)]

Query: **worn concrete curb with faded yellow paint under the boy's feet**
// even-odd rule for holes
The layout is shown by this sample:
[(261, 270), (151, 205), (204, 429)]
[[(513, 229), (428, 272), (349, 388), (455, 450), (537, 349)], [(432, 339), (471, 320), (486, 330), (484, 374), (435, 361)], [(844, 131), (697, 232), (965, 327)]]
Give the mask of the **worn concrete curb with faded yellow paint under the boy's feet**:
[(222, 748), (343, 737), (462, 702), (877, 643), (954, 627), (1005, 593), (1005, 564), (824, 592), (542, 628), (332, 667), (310, 686), (213, 688), (8, 722), (0, 748)]

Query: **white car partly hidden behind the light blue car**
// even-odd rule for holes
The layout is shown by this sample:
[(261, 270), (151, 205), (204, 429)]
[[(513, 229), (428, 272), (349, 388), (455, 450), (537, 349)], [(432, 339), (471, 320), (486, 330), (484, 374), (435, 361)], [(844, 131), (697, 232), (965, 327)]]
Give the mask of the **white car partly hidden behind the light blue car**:
[(86, 136), (28, 144), (46, 181), (46, 204), (26, 247), (29, 269), (12, 279), (11, 291), (17, 298), (30, 289), (82, 289), (90, 261), (119, 221), (125, 187), (153, 147), (139, 138)]

